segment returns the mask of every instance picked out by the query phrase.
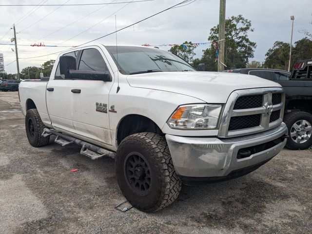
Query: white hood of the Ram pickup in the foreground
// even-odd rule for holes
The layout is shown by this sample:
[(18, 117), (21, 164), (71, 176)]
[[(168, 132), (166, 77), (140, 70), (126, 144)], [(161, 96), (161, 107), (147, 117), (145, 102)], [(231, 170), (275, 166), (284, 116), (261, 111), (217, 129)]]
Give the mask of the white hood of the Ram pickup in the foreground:
[(226, 103), (238, 89), (281, 87), (256, 76), (222, 72), (155, 72), (129, 75), (127, 80), (132, 87), (187, 95), (207, 103)]

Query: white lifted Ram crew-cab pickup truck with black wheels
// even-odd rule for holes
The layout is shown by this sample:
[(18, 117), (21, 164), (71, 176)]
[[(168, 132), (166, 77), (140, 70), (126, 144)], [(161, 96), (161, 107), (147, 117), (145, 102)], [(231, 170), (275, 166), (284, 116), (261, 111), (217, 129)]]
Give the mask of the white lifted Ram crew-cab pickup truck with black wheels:
[(198, 72), (157, 48), (71, 49), (48, 81), (22, 81), (19, 95), (31, 145), (55, 135), (93, 159), (114, 157), (123, 195), (145, 212), (174, 202), (182, 183), (246, 175), (286, 144), (279, 84)]

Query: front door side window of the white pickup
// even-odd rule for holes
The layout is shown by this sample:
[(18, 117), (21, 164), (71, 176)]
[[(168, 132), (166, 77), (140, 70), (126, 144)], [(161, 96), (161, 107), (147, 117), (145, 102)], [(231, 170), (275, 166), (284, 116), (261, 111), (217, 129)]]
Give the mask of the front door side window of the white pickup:
[(82, 51), (78, 70), (108, 72), (106, 63), (97, 49), (85, 49)]

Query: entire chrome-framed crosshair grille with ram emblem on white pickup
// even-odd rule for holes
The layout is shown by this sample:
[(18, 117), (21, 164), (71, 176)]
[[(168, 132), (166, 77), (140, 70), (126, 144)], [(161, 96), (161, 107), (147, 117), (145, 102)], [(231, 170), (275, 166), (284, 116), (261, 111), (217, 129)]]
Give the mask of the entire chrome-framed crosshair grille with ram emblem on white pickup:
[(282, 88), (236, 90), (225, 105), (218, 136), (239, 137), (277, 127), (284, 103)]

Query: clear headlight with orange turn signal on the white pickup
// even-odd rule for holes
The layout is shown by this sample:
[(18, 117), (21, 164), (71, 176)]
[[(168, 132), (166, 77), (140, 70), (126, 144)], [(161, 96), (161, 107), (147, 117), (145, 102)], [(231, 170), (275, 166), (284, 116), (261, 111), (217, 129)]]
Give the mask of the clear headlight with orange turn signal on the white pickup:
[(216, 129), (221, 109), (220, 104), (182, 105), (167, 123), (176, 129)]

